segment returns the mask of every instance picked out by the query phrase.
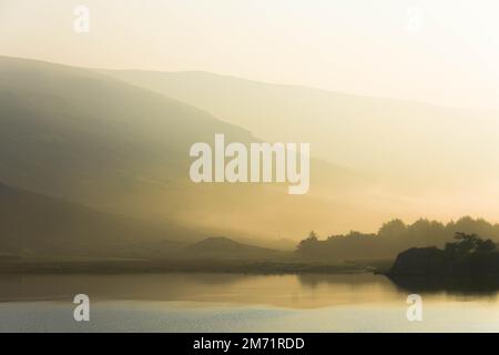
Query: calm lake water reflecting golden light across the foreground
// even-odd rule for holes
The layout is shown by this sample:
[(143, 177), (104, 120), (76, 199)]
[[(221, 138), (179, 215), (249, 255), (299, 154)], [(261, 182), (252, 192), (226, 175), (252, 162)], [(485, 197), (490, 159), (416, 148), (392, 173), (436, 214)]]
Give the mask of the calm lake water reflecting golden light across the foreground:
[(421, 322), (408, 295), (371, 274), (0, 275), (0, 332), (499, 332), (497, 292), (421, 293)]

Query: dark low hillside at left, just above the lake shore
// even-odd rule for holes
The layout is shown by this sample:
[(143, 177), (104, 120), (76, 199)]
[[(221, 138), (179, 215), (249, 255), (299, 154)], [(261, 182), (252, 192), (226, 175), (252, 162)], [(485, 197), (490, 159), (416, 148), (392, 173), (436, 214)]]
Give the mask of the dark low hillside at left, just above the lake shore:
[(0, 221), (0, 254), (150, 257), (153, 248), (165, 256), (182, 246), (166, 240), (175, 226), (106, 214), (2, 183)]

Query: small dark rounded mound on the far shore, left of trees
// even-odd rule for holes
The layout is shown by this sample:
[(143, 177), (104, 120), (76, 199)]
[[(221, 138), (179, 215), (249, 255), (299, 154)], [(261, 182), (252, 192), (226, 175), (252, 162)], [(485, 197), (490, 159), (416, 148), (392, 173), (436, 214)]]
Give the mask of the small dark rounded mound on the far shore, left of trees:
[(235, 242), (228, 237), (207, 237), (182, 250), (183, 255), (191, 257), (269, 257), (281, 252), (275, 250)]

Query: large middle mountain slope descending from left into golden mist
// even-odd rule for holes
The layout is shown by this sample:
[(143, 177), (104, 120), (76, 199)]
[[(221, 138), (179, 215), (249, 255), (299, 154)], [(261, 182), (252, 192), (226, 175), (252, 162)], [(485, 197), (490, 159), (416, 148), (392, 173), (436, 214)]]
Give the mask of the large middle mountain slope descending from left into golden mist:
[[(312, 163), (306, 195), (287, 194), (287, 184), (193, 183), (193, 143), (213, 145), (215, 133), (244, 144), (259, 139), (164, 94), (26, 59), (0, 58), (0, 181), (9, 185), (245, 240), (296, 240), (312, 226), (346, 227), (369, 210), (356, 202), (364, 178), (320, 161)], [(175, 229), (166, 239), (190, 234)]]

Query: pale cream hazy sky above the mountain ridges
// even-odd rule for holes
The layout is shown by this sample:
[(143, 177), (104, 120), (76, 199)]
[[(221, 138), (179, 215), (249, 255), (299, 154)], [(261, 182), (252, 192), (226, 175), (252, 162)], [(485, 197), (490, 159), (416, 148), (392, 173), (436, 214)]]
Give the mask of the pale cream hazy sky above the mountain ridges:
[[(73, 29), (75, 6), (90, 32)], [(0, 54), (499, 109), (492, 0), (0, 0)]]

